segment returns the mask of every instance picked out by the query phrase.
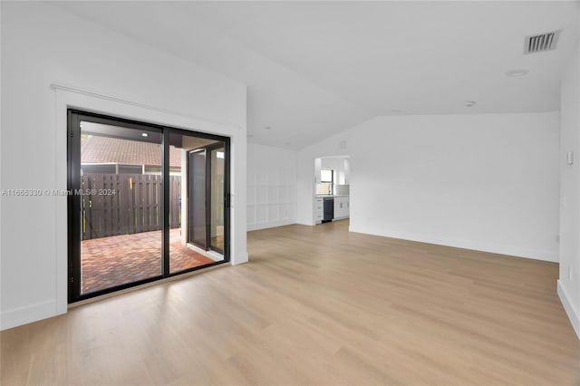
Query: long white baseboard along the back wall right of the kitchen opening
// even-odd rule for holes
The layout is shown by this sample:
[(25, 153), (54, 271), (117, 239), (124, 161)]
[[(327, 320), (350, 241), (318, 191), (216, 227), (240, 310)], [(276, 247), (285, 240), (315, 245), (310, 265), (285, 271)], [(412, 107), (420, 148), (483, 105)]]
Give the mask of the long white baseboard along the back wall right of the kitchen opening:
[(498, 244), (481, 243), (472, 240), (461, 240), (449, 237), (439, 237), (439, 236), (427, 236), (427, 235), (414, 235), (407, 234), (403, 232), (376, 232), (371, 229), (365, 229), (364, 227), (356, 227), (351, 225), (349, 231), (357, 233), (365, 233), (374, 236), (401, 238), (403, 240), (418, 241), (420, 243), (437, 244), (440, 246), (454, 246), (457, 248), (472, 249), (481, 252), (490, 252), (500, 255), (526, 257), (535, 260), (549, 261), (552, 263), (557, 263), (559, 261), (557, 250), (540, 250), (525, 248), (520, 246), (506, 246)]

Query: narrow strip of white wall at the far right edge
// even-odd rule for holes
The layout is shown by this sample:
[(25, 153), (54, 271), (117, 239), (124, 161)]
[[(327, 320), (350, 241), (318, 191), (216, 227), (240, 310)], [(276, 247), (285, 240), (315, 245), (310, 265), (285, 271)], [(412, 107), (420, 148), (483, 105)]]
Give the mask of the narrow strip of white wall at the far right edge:
[[(580, 17), (579, 17), (580, 23)], [(560, 279), (558, 294), (580, 337), (580, 43), (562, 80), (560, 134)], [(574, 164), (566, 153), (574, 152)]]

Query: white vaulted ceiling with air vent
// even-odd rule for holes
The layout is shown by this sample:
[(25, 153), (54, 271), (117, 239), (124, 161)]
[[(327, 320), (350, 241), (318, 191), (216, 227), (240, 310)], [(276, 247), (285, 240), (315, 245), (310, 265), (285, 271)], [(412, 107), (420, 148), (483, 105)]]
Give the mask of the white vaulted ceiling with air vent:
[[(291, 149), (377, 115), (555, 111), (580, 8), (577, 1), (57, 6), (246, 83), (248, 141)], [(563, 32), (555, 51), (523, 53), (526, 35), (556, 29)], [(514, 69), (529, 73), (505, 75)]]

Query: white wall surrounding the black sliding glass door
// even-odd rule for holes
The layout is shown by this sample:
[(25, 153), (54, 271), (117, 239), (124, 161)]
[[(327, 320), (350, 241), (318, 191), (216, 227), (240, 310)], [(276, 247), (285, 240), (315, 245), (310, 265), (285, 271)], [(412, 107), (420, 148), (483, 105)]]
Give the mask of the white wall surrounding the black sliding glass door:
[[(53, 5), (1, 6), (2, 188), (66, 188), (67, 105), (225, 134), (232, 259), (246, 261), (245, 85)], [(3, 197), (2, 207), (2, 328), (66, 312), (65, 198)]]

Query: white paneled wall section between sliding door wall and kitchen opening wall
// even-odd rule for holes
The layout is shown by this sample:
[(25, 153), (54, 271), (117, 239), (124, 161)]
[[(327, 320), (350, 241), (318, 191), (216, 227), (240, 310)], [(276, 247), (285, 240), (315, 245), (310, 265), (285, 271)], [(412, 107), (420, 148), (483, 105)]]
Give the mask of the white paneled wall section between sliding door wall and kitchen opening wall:
[(296, 152), (247, 144), (247, 230), (296, 221)]

